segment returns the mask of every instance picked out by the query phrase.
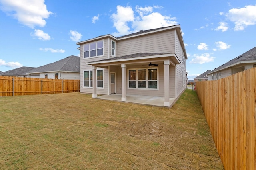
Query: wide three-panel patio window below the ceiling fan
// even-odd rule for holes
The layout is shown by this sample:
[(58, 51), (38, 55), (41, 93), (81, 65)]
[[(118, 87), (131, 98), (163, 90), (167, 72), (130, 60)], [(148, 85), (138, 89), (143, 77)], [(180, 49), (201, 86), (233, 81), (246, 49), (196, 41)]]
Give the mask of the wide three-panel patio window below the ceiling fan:
[(128, 88), (158, 89), (158, 68), (128, 69)]

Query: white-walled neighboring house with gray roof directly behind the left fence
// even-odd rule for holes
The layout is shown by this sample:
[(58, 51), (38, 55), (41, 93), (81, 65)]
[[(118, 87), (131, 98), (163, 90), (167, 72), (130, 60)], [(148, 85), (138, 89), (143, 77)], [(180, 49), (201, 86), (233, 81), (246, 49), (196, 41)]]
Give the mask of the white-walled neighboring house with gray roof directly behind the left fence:
[(51, 79), (79, 79), (80, 57), (68, 56), (64, 59), (40, 66), (26, 72), (31, 78), (51, 78)]

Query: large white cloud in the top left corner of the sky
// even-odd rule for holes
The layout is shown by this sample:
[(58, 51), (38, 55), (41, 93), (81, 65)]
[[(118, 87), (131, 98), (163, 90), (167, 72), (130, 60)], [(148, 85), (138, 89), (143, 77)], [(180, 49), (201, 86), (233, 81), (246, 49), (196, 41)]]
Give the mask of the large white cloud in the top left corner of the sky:
[(30, 28), (44, 27), (52, 12), (48, 11), (44, 0), (1, 0), (1, 10)]

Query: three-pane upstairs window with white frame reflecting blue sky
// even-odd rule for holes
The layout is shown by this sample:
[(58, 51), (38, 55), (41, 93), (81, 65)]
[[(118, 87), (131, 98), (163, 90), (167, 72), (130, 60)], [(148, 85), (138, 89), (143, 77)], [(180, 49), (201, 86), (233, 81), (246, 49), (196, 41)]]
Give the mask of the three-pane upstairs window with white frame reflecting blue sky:
[(84, 44), (84, 58), (103, 56), (103, 40)]

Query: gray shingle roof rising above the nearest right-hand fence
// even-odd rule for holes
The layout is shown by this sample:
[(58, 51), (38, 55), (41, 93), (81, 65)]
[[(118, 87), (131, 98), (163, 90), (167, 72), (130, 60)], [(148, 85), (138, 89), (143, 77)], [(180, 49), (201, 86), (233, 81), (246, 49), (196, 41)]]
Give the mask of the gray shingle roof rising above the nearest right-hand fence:
[[(246, 51), (245, 53), (239, 55), (238, 57), (228, 61), (227, 63), (215, 68), (212, 70), (212, 72), (216, 72), (218, 70), (221, 70), (222, 68), (226, 68), (228, 66), (231, 66), (236, 63), (240, 63), (240, 61), (251, 61), (256, 60), (256, 47), (250, 49), (249, 51)], [(211, 73), (211, 72), (210, 72)]]

